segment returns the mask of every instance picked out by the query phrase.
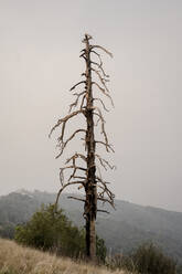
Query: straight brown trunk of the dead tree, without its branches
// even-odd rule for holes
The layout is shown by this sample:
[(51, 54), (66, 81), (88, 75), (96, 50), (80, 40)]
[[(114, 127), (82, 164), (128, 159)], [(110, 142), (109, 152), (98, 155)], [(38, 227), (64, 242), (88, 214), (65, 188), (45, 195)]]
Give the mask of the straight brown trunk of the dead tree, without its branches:
[(87, 104), (86, 104), (86, 148), (87, 148), (87, 180), (86, 180), (86, 252), (92, 261), (96, 259), (96, 232), (95, 220), (97, 212), (97, 190), (96, 190), (96, 168), (95, 168), (95, 138), (94, 138), (94, 117), (93, 117), (93, 88), (92, 88), (92, 67), (90, 67), (90, 49), (89, 39), (86, 40), (86, 87), (87, 87)]

